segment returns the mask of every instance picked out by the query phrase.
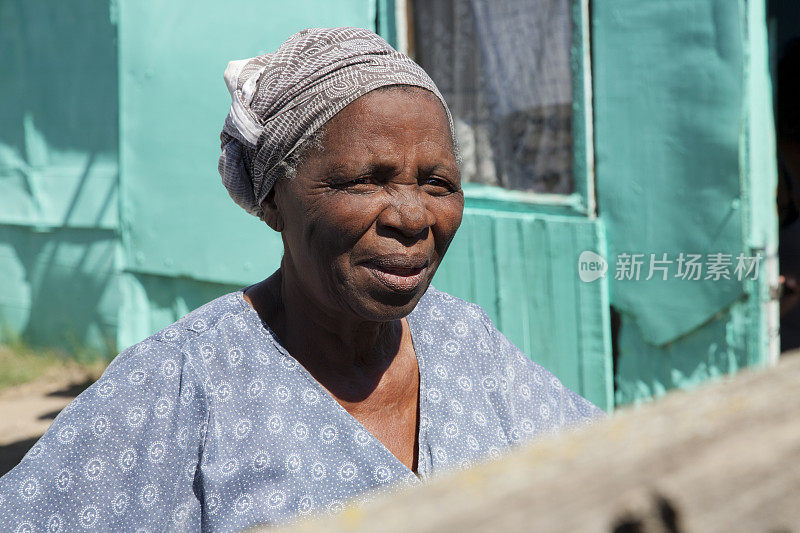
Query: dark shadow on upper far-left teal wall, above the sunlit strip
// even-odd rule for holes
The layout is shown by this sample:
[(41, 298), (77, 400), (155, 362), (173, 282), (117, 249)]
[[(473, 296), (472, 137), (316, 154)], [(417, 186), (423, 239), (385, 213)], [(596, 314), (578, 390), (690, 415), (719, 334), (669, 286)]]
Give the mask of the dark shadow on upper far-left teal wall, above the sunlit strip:
[(50, 149), (117, 153), (117, 28), (110, 4), (0, 3), (0, 49), (10, 51), (0, 54), (0, 142), (31, 166), (53, 163), (37, 136)]

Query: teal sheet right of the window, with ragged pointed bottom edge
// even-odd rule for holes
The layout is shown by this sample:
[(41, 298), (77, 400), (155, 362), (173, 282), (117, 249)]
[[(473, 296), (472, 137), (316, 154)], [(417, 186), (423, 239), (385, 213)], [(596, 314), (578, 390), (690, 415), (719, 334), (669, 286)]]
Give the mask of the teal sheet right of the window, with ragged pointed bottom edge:
[[(623, 252), (649, 260), (651, 253), (735, 258), (747, 251), (740, 4), (593, 5), (597, 205), (612, 268)], [(736, 279), (644, 281), (647, 274), (639, 281), (612, 279), (612, 304), (655, 345), (701, 326), (744, 294)]]

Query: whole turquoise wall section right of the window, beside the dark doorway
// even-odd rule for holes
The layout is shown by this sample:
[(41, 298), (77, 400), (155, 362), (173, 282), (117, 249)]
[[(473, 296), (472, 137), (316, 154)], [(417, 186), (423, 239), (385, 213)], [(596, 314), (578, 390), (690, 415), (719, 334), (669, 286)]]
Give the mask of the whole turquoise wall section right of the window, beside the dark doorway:
[(764, 364), (777, 227), (764, 3), (617, 0), (592, 15), (609, 257), (765, 256), (757, 282), (610, 278), (617, 402)]

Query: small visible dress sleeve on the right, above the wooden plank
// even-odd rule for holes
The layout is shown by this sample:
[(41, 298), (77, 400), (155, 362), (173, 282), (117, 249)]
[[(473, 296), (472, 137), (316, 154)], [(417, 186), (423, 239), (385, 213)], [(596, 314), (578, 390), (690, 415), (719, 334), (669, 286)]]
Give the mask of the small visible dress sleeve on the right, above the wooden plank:
[(565, 387), (552, 373), (532, 361), (492, 324), (478, 308), (489, 334), (501, 387), (506, 389), (506, 433), (512, 443), (534, 434), (584, 424), (606, 414)]

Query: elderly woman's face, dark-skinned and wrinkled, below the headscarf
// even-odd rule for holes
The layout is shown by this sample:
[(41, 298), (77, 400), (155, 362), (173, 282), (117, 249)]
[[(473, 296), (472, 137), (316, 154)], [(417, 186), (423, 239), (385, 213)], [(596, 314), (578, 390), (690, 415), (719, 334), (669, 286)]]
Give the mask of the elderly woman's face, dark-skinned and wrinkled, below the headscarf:
[(464, 209), (442, 105), (424, 89), (358, 98), (264, 207), (283, 236), (284, 276), (295, 276), (311, 305), (369, 321), (407, 315)]

